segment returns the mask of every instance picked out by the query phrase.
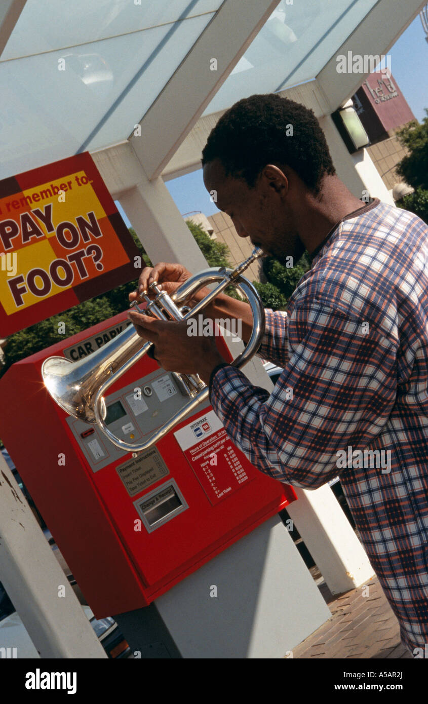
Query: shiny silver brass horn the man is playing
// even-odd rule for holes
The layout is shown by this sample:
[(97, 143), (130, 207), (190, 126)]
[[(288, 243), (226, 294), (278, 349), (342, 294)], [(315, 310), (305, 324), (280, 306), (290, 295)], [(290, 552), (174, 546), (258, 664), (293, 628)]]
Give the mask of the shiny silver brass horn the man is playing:
[[(159, 320), (187, 320), (208, 306), (228, 286), (232, 285), (243, 294), (251, 306), (253, 314), (253, 330), (244, 351), (231, 362), (234, 367), (242, 367), (258, 351), (265, 329), (265, 310), (256, 288), (241, 274), (253, 261), (263, 256), (263, 251), (256, 247), (248, 259), (239, 264), (236, 269), (224, 267), (205, 269), (190, 277), (172, 296), (159, 289), (158, 284), (151, 284), (152, 299), (144, 294), (147, 302), (146, 310), (139, 310), (138, 303), (132, 303), (139, 312), (153, 315)], [(189, 308), (184, 303), (196, 294), (199, 289), (217, 284), (210, 293), (196, 306)], [(156, 444), (177, 423), (193, 411), (199, 403), (208, 397), (208, 386), (198, 375), (185, 375), (173, 372), (175, 382), (182, 394), (189, 397), (183, 408), (175, 413), (168, 422), (140, 444), (132, 444), (113, 435), (106, 426), (106, 404), (104, 394), (112, 384), (144, 354), (153, 343), (147, 342), (141, 346), (141, 337), (130, 325), (114, 337), (110, 342), (94, 352), (89, 358), (71, 362), (64, 357), (49, 357), (42, 365), (42, 377), (46, 389), (58, 406), (78, 420), (98, 425), (104, 435), (122, 450), (132, 452), (145, 451)]]

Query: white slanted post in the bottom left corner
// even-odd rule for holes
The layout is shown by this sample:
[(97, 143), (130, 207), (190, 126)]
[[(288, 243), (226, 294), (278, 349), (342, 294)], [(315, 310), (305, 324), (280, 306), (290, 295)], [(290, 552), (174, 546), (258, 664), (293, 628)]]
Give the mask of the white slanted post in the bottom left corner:
[(0, 536), (0, 579), (40, 656), (106, 658), (1, 453)]

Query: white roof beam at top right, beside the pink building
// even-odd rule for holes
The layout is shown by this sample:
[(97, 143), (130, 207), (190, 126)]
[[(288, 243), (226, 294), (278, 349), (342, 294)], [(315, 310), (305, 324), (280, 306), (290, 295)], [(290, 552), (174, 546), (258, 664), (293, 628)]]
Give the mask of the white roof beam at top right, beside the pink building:
[[(348, 100), (360, 87), (368, 73), (338, 73), (337, 56), (386, 56), (398, 37), (407, 29), (426, 0), (406, 0), (405, 3), (394, 3), (391, 0), (379, 0), (362, 22), (355, 27), (346, 41), (339, 46), (334, 56), (326, 63), (317, 75), (320, 88), (329, 101), (330, 112), (333, 113)], [(391, 66), (394, 73), (394, 66)]]

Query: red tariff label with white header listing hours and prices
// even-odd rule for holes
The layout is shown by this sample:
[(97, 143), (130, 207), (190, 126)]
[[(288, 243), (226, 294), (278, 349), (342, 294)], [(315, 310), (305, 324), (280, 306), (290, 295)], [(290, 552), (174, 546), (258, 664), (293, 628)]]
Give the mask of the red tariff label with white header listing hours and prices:
[(212, 505), (251, 481), (246, 472), (248, 460), (234, 446), (213, 410), (174, 435)]

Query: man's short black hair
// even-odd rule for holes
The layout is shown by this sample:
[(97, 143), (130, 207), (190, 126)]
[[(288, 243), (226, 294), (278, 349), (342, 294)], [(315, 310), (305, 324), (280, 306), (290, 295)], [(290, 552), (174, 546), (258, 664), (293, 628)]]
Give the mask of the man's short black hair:
[(315, 194), (322, 177), (336, 173), (313, 111), (274, 93), (244, 98), (222, 115), (203, 149), (202, 165), (217, 158), (227, 176), (244, 178), (250, 188), (266, 164), (288, 165)]

